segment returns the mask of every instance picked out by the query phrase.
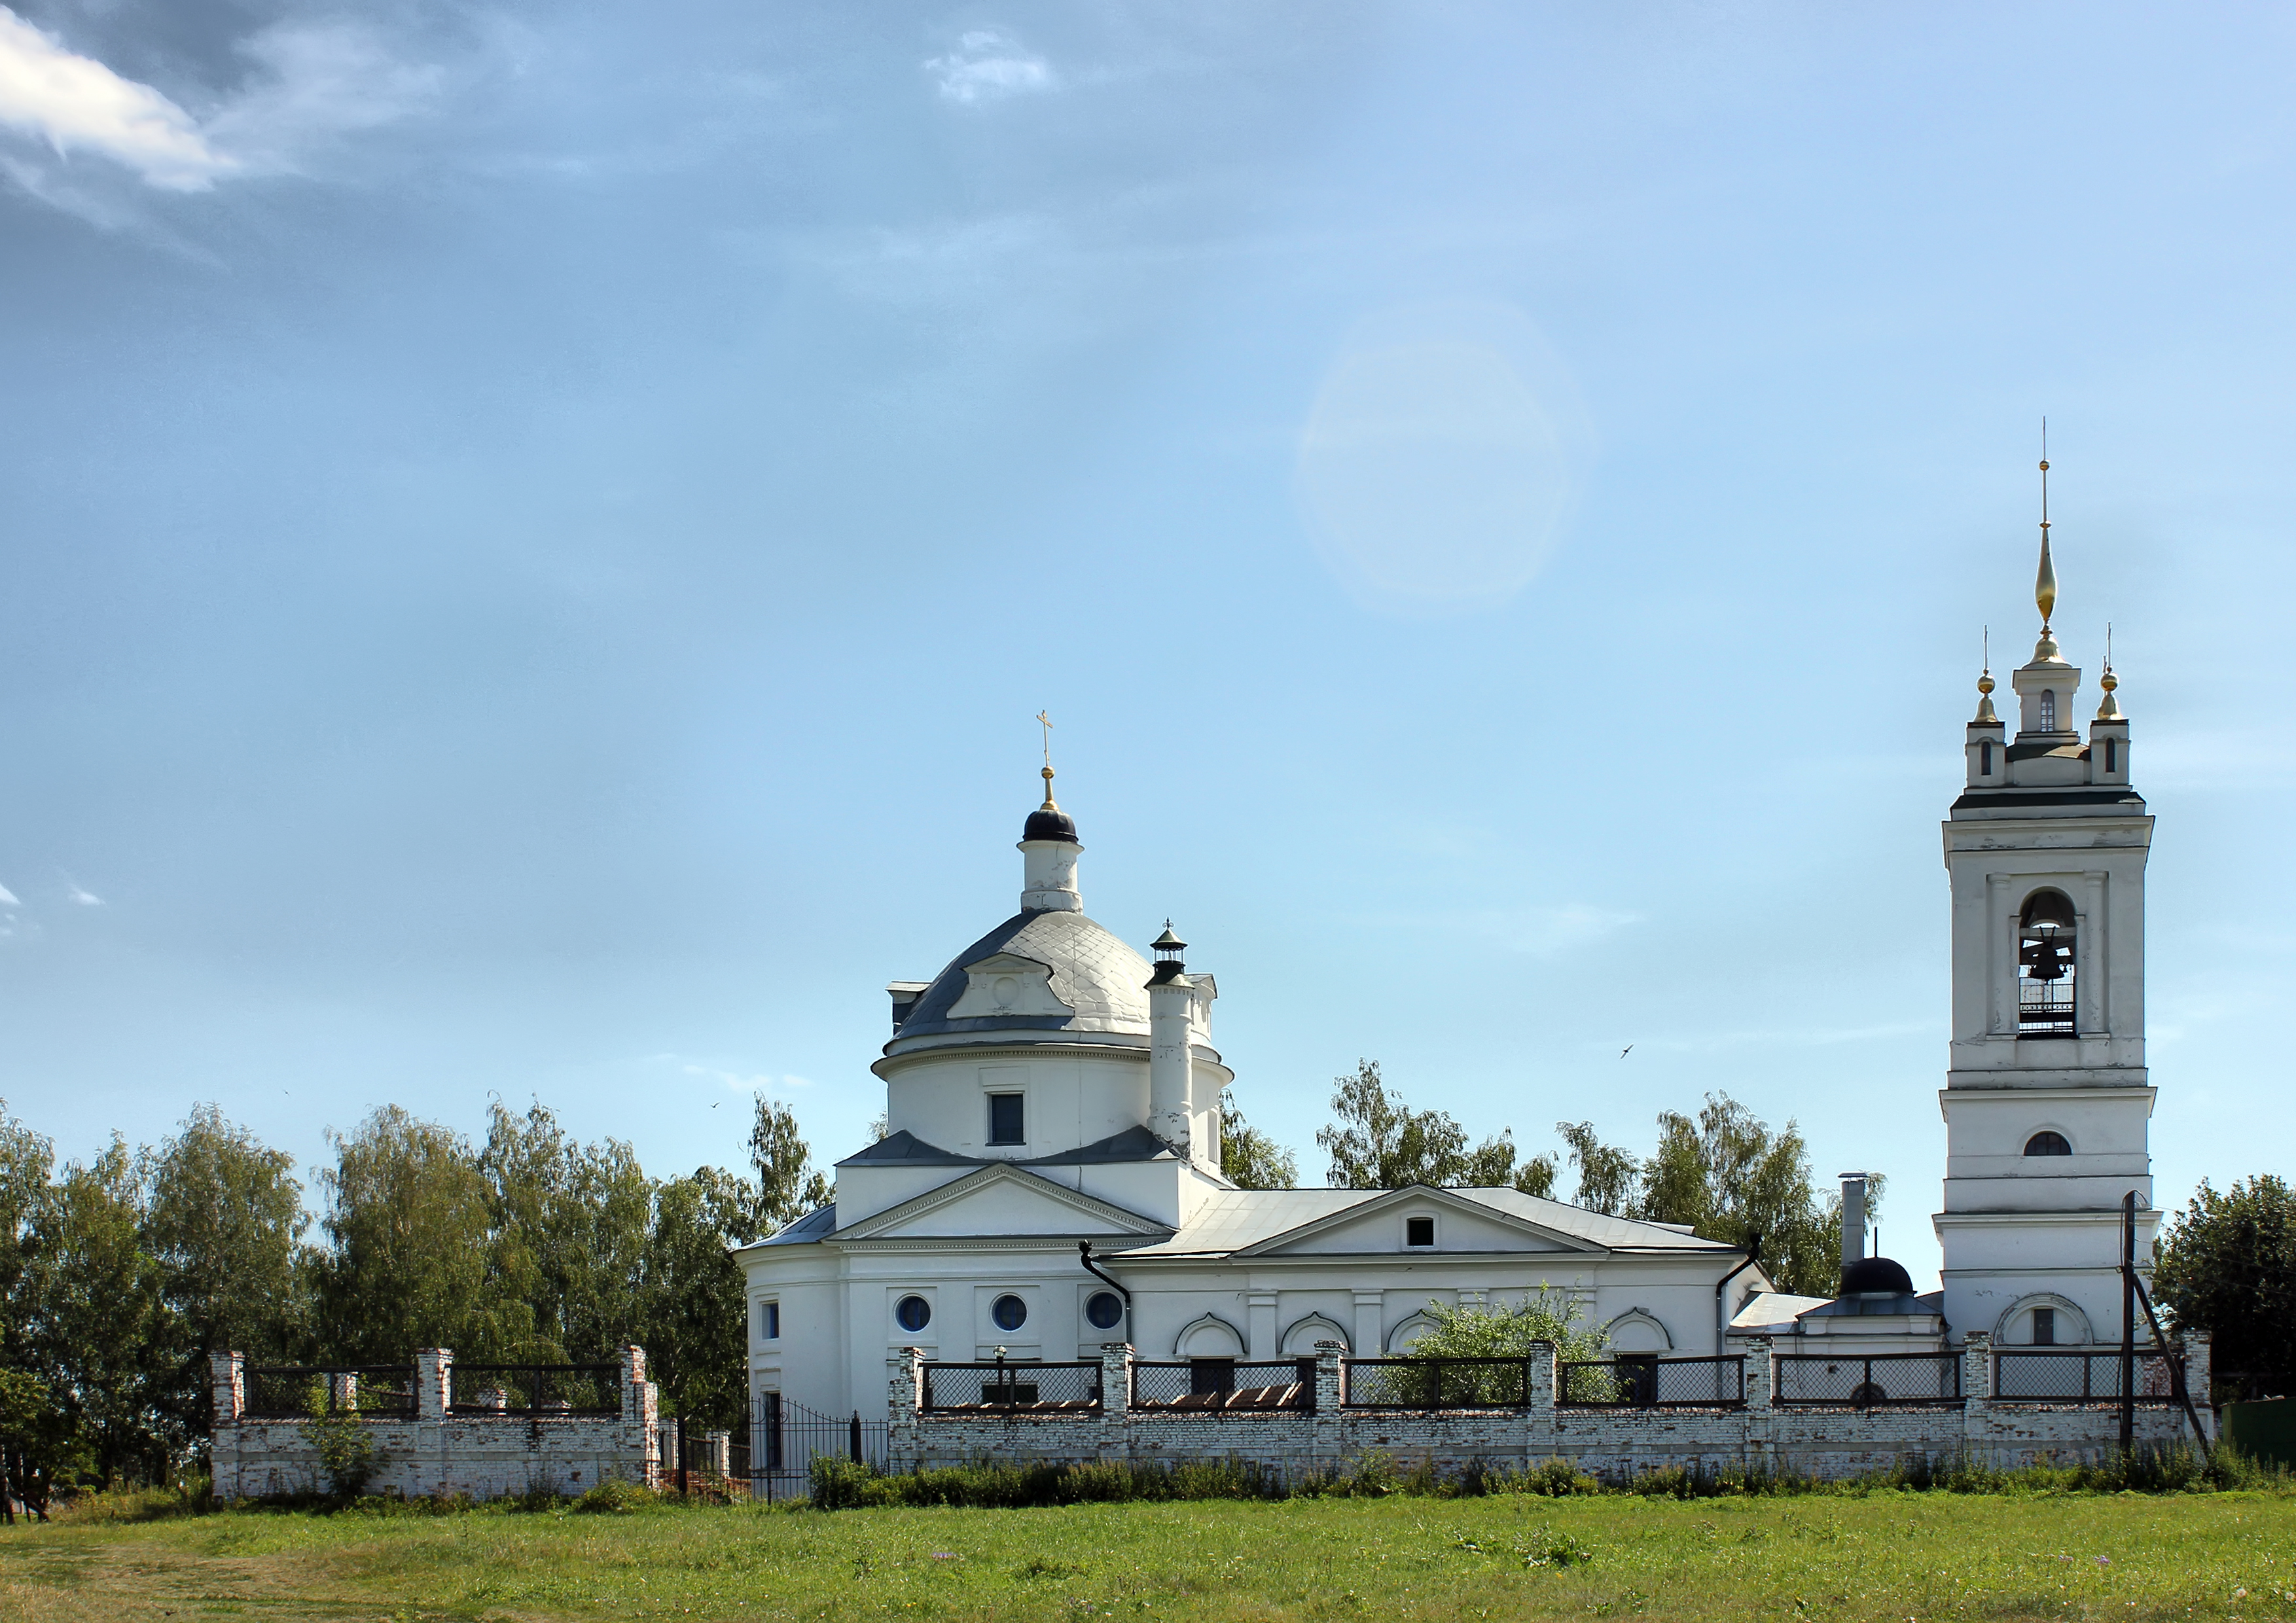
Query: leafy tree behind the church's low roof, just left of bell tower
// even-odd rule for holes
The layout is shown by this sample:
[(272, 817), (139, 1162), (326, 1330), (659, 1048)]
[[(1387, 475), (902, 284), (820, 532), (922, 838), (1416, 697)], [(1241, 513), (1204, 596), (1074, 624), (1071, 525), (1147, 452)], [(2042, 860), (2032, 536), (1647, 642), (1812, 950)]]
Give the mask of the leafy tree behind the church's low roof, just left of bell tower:
[[(1587, 1125), (1580, 1123), (1577, 1132)], [(1660, 1111), (1658, 1148), (1639, 1168), (1630, 1217), (1685, 1224), (1701, 1240), (1745, 1247), (1761, 1235), (1761, 1265), (1782, 1290), (1830, 1297), (1841, 1286), (1841, 1198), (1821, 1201), (1809, 1146), (1786, 1123), (1773, 1132), (1727, 1093), (1708, 1093), (1697, 1120)], [(1883, 1178), (1867, 1180), (1878, 1212)]]

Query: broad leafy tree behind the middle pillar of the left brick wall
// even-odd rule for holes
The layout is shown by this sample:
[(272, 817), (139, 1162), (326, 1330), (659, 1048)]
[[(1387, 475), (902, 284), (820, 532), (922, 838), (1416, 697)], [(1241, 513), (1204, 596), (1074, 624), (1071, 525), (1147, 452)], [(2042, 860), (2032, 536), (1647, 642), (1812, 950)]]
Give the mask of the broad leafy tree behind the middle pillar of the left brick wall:
[(471, 1143), (397, 1104), (328, 1141), (321, 1357), (404, 1364), (418, 1348), (452, 1348), (466, 1364), (496, 1364), (542, 1354), (533, 1304), (519, 1292), (523, 1269), (503, 1256)]

